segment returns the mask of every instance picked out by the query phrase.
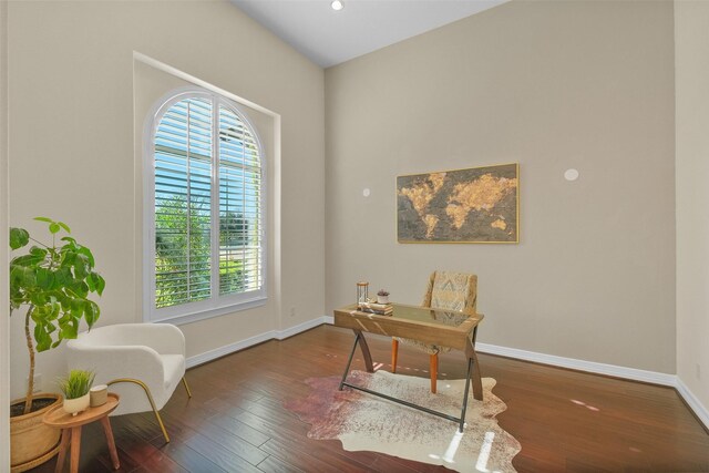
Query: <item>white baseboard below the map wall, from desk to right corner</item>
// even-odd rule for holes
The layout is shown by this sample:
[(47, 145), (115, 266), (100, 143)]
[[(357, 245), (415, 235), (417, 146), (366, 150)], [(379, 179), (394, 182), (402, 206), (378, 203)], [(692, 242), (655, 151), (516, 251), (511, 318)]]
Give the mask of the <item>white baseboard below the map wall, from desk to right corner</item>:
[(630, 379), (634, 381), (670, 385), (672, 388), (676, 387), (677, 383), (677, 377), (675, 374), (658, 373), (656, 371), (645, 371), (635, 368), (618, 367), (615, 364), (597, 363), (595, 361), (584, 361), (574, 358), (556, 357), (554, 354), (537, 353), (535, 351), (499, 347), (496, 345), (487, 343), (475, 343), (475, 349), (481, 353), (500, 354), (501, 357), (516, 358), (520, 360), (534, 361), (536, 363), (569, 368), (572, 370), (588, 371), (596, 374), (606, 374)]

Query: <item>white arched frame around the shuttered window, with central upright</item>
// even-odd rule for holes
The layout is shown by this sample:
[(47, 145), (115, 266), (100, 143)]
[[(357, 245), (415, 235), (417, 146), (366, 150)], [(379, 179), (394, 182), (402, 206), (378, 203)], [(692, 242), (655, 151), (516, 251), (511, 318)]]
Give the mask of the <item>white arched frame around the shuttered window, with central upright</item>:
[[(186, 302), (182, 305), (156, 308), (155, 307), (155, 135), (157, 126), (165, 113), (176, 103), (186, 99), (208, 99), (213, 104), (213, 122), (216, 128), (213, 128), (213, 166), (212, 166), (212, 222), (210, 222), (210, 240), (212, 248), (219, 247), (219, 224), (215, 224), (214, 216), (219, 215), (219, 163), (218, 152), (218, 114), (219, 106), (223, 105), (234, 112), (236, 116), (250, 131), (258, 146), (259, 167), (260, 167), (260, 260), (259, 273), (261, 275), (261, 287), (257, 290), (248, 292), (219, 295), (218, 279), (212, 279), (212, 296), (208, 299)], [(215, 122), (216, 119), (216, 122)], [(204, 320), (212, 317), (218, 317), (226, 313), (233, 313), (242, 310), (251, 309), (266, 305), (268, 300), (268, 189), (266, 174), (266, 156), (264, 142), (260, 138), (258, 130), (254, 122), (249, 120), (247, 113), (234, 100), (224, 96), (217, 92), (213, 92), (198, 86), (187, 86), (173, 90), (154, 105), (152, 113), (148, 114), (144, 132), (144, 151), (143, 151), (143, 320), (146, 322), (171, 322), (171, 323), (191, 323), (197, 320)], [(212, 255), (214, 257), (214, 254)], [(218, 257), (218, 255), (217, 255)], [(218, 274), (218, 269), (216, 270)]]

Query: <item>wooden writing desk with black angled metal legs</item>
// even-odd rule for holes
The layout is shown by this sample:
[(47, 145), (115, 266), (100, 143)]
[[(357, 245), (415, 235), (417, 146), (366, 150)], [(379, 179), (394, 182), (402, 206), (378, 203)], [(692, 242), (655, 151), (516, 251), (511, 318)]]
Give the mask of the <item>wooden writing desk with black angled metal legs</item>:
[[(390, 401), (419, 409), (433, 415), (438, 415), (454, 422), (459, 422), (459, 431), (463, 431), (465, 423), (465, 409), (467, 408), (467, 393), (472, 381), (473, 397), (476, 400), (483, 399), (483, 385), (480, 376), (480, 366), (477, 356), (475, 354), (475, 336), (477, 325), (484, 318), (482, 313), (465, 315), (443, 309), (434, 309), (429, 307), (405, 306), (402, 304), (393, 304), (393, 315), (379, 316), (376, 313), (361, 312), (357, 310), (357, 305), (343, 307), (335, 310), (335, 326), (352, 329), (354, 332), (354, 343), (350, 358), (342, 374), (340, 382), (340, 391), (347, 385), (352, 389), (369, 392), (370, 394), (386, 398)], [(463, 394), (463, 407), (460, 418), (433, 411), (422, 405), (413, 404), (408, 401), (391, 398), (380, 392), (371, 391), (366, 388), (353, 385), (347, 382), (347, 376), (350, 371), (354, 350), (359, 345), (362, 350), (364, 366), (367, 371), (373, 372), (372, 357), (367, 346), (363, 332), (378, 333), (387, 337), (402, 337), (422, 341), (424, 343), (438, 345), (441, 347), (450, 347), (461, 350), (467, 358), (467, 378), (465, 382), (465, 392)]]

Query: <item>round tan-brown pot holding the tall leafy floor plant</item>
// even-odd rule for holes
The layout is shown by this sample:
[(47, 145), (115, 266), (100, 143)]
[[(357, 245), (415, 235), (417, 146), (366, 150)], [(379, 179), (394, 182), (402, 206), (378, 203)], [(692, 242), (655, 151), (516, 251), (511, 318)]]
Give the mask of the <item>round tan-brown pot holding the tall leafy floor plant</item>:
[[(19, 473), (33, 469), (59, 452), (60, 430), (42, 423), (42, 417), (52, 407), (61, 404), (62, 397), (43, 392), (34, 399), (53, 399), (54, 402), (30, 412), (29, 414), (10, 418), (10, 464), (11, 472)], [(24, 403), (24, 399), (16, 399), (11, 404)]]

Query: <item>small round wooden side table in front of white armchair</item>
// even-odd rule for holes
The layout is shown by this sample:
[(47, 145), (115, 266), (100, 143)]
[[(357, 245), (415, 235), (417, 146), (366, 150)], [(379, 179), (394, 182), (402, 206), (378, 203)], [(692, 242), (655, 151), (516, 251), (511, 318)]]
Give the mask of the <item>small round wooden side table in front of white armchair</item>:
[(52, 408), (44, 414), (42, 422), (49, 426), (53, 426), (62, 430), (62, 441), (59, 445), (59, 457), (56, 459), (55, 473), (60, 473), (64, 467), (64, 457), (66, 456), (66, 449), (71, 443), (71, 473), (79, 472), (79, 453), (81, 450), (81, 428), (88, 423), (101, 421), (103, 431), (106, 434), (106, 443), (109, 444), (109, 452), (111, 453), (111, 461), (115, 470), (121, 467), (119, 462), (119, 453), (115, 450), (115, 442), (113, 441), (113, 431), (111, 430), (111, 422), (109, 421), (109, 414), (119, 407), (120, 397), (113, 392), (109, 393), (109, 401), (99, 405), (97, 408), (89, 408), (85, 411), (72, 415), (64, 412), (62, 405)]

